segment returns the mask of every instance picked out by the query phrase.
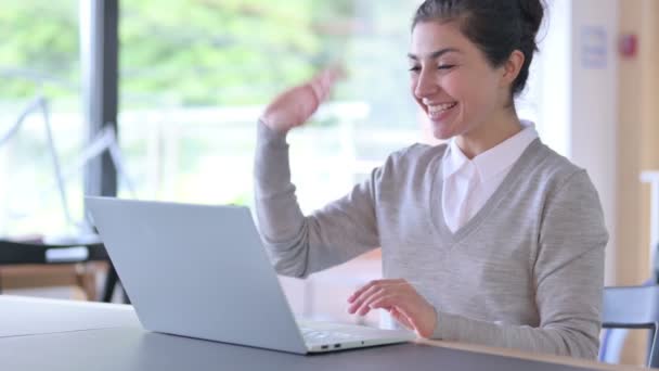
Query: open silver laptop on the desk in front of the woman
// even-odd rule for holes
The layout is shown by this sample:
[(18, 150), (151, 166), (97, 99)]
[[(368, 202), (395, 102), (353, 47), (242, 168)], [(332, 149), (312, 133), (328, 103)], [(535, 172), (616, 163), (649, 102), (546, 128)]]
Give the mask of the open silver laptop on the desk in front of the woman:
[(296, 320), (247, 207), (86, 201), (148, 331), (295, 354), (416, 337), (404, 330)]

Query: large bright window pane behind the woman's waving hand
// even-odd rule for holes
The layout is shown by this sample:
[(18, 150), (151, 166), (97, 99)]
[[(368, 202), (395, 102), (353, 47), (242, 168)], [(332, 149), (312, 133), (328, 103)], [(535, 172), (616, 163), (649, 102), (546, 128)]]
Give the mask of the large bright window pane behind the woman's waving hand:
[[(256, 121), (331, 63), (348, 78), (292, 143), (303, 208), (419, 139), (405, 53), (414, 2), (125, 1), (119, 131), (139, 197), (251, 202)], [(126, 188), (121, 194), (129, 195)]]

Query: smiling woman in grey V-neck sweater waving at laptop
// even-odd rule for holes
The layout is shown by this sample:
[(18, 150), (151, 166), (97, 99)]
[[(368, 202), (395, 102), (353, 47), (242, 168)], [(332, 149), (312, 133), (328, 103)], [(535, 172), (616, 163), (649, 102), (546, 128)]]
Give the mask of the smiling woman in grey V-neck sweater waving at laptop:
[[(419, 336), (595, 358), (608, 234), (586, 172), (517, 117), (540, 0), (426, 0), (411, 90), (447, 144), (391, 154), (310, 216), (290, 183), (288, 130), (337, 78), (277, 97), (258, 127), (260, 232), (277, 271), (306, 277), (382, 246), (383, 274), (349, 312), (388, 310)], [(551, 124), (551, 123), (550, 123)]]

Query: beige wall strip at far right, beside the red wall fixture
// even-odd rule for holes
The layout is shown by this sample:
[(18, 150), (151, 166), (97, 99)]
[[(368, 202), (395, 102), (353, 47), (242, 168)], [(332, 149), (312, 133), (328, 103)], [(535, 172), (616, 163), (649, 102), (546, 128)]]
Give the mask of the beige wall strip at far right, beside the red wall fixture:
[[(659, 1), (619, 1), (621, 35), (636, 35), (637, 54), (620, 57), (618, 114), (618, 238), (616, 283), (638, 284), (649, 270), (649, 187), (639, 174), (659, 169)], [(646, 336), (628, 342), (623, 362), (639, 364)]]

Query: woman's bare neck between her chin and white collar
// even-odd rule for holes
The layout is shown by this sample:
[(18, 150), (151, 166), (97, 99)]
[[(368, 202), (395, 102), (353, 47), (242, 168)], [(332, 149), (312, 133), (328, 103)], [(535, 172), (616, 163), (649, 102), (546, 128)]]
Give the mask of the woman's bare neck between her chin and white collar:
[(515, 136), (521, 129), (521, 123), (515, 111), (507, 111), (487, 123), (480, 124), (469, 132), (456, 137), (455, 141), (465, 156), (473, 159)]

